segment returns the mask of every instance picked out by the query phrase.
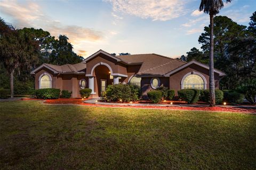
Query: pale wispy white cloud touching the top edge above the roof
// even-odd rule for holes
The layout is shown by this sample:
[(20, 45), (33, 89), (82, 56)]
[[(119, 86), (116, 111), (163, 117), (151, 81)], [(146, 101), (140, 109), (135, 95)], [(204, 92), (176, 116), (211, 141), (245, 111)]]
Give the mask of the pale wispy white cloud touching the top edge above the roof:
[[(186, 1), (179, 0), (107, 0), (113, 6), (114, 15), (116, 13), (130, 14), (142, 19), (152, 19), (153, 21), (167, 21), (178, 18), (186, 14), (183, 6)], [(119, 17), (119, 16), (118, 16)]]

